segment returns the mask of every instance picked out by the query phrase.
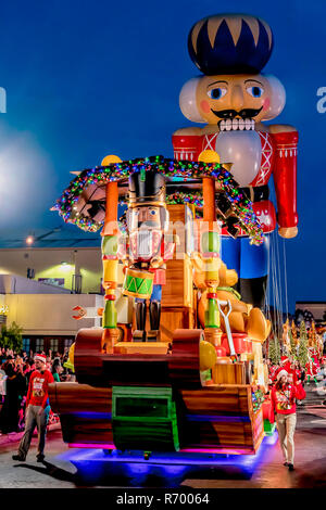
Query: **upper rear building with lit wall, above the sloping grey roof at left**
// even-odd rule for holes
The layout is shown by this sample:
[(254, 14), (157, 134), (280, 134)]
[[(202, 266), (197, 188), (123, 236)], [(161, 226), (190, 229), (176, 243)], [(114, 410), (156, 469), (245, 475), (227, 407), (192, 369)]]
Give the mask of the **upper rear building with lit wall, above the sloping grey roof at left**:
[(76, 230), (64, 225), (1, 239), (0, 275), (17, 275), (74, 293), (101, 294), (101, 237), (84, 232), (76, 237)]

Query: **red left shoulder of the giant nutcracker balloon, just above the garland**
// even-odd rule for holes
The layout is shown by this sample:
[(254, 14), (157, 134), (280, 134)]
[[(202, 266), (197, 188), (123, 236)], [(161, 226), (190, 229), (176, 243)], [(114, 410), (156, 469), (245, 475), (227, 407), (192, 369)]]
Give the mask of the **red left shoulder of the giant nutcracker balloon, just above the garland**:
[(175, 160), (198, 161), (202, 151), (202, 129), (189, 127), (177, 129), (172, 136)]

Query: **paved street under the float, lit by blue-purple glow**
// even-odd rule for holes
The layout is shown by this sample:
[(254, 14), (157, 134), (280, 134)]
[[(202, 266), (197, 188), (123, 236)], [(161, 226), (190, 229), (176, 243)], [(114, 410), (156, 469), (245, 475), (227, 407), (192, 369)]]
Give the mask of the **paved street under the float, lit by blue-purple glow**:
[[(0, 488), (76, 487), (192, 487), (192, 488), (326, 488), (326, 407), (308, 387), (305, 405), (298, 409), (296, 470), (281, 463), (277, 436), (267, 437), (258, 456), (218, 457), (167, 464), (161, 457), (121, 462), (102, 450), (68, 449), (60, 429), (48, 433), (47, 457), (36, 462), (36, 437), (26, 462), (11, 459), (20, 435), (0, 436)], [(201, 464), (200, 464), (201, 463)]]

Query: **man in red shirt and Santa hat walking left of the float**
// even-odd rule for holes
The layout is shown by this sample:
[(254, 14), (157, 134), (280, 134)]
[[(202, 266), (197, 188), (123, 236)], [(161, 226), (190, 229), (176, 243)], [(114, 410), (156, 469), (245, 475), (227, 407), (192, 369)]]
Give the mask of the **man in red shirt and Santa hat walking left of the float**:
[(38, 431), (37, 461), (45, 460), (45, 445), (47, 435), (47, 424), (49, 420), (50, 404), (48, 385), (53, 382), (52, 373), (47, 370), (46, 356), (38, 354), (35, 356), (36, 370), (29, 379), (26, 397), (26, 424), (25, 433), (18, 446), (18, 454), (13, 455), (13, 460), (24, 461), (26, 459), (35, 426)]

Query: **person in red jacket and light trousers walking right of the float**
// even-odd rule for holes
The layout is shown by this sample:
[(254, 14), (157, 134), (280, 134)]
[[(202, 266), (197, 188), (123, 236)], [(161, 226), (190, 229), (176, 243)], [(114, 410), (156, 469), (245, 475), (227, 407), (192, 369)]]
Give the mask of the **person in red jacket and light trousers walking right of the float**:
[(293, 471), (294, 462), (294, 431), (297, 423), (296, 398), (302, 400), (305, 398), (305, 392), (298, 381), (292, 384), (286, 370), (277, 374), (276, 385), (272, 388), (271, 422), (274, 422), (273, 416), (276, 413), (276, 424), (278, 430), (278, 439), (284, 456), (284, 466)]

